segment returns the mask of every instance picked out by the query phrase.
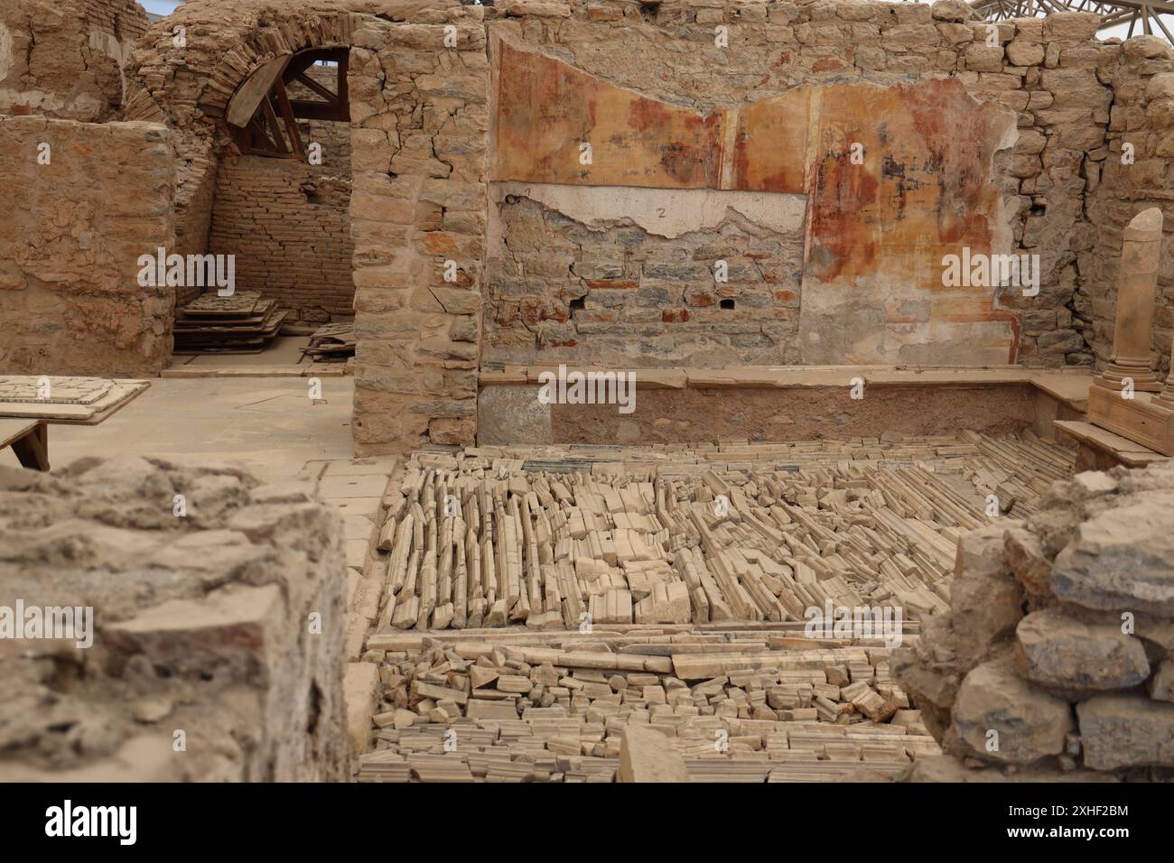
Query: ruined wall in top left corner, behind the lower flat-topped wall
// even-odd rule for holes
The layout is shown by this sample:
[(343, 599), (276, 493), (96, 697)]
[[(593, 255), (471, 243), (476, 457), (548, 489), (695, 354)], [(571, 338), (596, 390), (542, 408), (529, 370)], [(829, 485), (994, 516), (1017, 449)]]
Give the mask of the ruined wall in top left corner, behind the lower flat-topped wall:
[(134, 0), (20, 0), (0, 7), (0, 114), (117, 116), (123, 67), (147, 31)]

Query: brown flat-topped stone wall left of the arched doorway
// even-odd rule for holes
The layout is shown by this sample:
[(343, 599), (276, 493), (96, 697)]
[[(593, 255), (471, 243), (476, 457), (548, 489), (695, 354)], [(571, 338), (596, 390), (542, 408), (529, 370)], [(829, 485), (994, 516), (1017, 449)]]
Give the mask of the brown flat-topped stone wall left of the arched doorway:
[(174, 291), (137, 262), (173, 244), (171, 133), (0, 116), (0, 372), (157, 375)]

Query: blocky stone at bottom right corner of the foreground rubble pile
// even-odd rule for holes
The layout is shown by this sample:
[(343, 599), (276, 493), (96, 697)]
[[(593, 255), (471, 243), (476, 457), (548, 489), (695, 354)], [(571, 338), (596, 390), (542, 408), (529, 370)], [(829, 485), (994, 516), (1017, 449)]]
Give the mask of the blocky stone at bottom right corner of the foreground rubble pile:
[(1085, 764), (1094, 770), (1174, 764), (1174, 704), (1142, 694), (1098, 695), (1077, 707)]

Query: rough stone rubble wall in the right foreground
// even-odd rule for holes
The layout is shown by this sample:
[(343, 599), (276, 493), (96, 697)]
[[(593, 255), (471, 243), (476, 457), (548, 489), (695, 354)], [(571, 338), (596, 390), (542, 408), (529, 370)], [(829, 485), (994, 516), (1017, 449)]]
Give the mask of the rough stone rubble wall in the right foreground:
[(922, 781), (1174, 776), (1174, 470), (1079, 473), (966, 534), (950, 613), (893, 656)]

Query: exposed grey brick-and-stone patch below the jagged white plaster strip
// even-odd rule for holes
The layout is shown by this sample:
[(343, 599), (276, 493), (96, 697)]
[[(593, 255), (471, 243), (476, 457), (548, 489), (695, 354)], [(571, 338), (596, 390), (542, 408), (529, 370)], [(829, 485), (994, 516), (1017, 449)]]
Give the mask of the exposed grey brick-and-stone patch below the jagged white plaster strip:
[[(659, 359), (684, 365), (798, 362), (801, 230), (768, 231), (737, 213), (675, 237), (591, 230), (514, 195), (499, 217), (505, 254), (491, 270), (487, 311), (497, 359), (556, 349), (589, 363), (630, 352), (640, 336)], [(724, 282), (715, 279), (718, 261)]]

